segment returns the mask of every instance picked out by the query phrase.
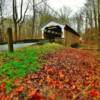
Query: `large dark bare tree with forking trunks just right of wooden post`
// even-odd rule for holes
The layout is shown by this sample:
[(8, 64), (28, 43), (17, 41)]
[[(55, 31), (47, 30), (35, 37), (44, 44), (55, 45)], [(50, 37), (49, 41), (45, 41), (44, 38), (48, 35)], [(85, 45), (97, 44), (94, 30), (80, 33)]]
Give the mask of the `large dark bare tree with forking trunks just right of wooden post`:
[(23, 12), (23, 0), (20, 1), (20, 13), (18, 13), (17, 8), (17, 0), (13, 0), (13, 21), (14, 21), (14, 35), (15, 35), (15, 41), (18, 39), (18, 28), (19, 28), (19, 39), (21, 35), (21, 28), (25, 21), (25, 16), (29, 7), (29, 0), (27, 3), (27, 6), (25, 8), (25, 11)]

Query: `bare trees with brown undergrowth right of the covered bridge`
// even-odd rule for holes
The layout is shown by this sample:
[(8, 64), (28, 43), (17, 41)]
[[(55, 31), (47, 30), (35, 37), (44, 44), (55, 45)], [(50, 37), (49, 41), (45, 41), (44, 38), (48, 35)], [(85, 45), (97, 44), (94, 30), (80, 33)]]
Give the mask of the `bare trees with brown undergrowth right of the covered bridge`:
[[(73, 21), (72, 21), (73, 20)], [(86, 0), (71, 19), (85, 41), (94, 41), (100, 48), (100, 0)]]

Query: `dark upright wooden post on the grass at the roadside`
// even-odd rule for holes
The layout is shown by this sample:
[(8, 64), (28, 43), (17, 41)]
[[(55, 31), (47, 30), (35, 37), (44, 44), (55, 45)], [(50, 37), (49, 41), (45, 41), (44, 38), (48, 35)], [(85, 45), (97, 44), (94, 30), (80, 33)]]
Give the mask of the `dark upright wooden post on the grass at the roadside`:
[(10, 52), (13, 52), (13, 37), (12, 37), (12, 28), (7, 29), (7, 35), (8, 35), (8, 50)]

